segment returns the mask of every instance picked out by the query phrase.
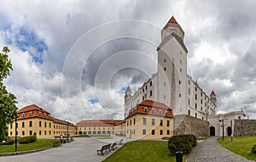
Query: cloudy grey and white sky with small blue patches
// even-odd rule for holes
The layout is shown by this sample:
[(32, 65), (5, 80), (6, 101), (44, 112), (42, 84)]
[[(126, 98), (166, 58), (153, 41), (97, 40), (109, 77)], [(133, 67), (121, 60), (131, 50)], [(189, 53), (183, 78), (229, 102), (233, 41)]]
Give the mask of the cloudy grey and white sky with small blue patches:
[(256, 3), (253, 0), (7, 1), (0, 47), (17, 107), (37, 104), (78, 122), (123, 119), (124, 92), (157, 70), (160, 30), (172, 17), (185, 32), (188, 74), (217, 95), (218, 113), (256, 119)]

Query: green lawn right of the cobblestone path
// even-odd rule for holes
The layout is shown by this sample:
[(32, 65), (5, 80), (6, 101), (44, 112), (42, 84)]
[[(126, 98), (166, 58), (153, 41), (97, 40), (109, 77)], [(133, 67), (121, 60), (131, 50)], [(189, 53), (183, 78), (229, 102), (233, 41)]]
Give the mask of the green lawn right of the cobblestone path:
[(256, 136), (247, 136), (247, 137), (233, 137), (233, 142), (231, 142), (231, 137), (222, 137), (218, 138), (218, 142), (230, 151), (240, 154), (241, 156), (247, 159), (253, 159), (256, 161), (256, 154), (251, 153), (253, 145), (256, 144)]

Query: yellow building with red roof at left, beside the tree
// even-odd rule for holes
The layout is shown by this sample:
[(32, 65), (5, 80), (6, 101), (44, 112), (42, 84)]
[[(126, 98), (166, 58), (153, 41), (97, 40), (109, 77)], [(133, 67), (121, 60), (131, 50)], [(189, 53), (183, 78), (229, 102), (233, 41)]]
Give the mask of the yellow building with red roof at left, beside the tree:
[[(50, 116), (45, 109), (32, 104), (18, 110), (17, 137), (31, 136), (38, 138), (76, 134), (77, 128), (70, 122)], [(15, 122), (9, 124), (9, 137), (15, 137)]]

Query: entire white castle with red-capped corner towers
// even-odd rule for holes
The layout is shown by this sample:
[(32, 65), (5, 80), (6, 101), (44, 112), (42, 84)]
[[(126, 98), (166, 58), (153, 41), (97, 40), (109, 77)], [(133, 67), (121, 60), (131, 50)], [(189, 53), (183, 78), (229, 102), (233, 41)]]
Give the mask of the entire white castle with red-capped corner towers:
[(188, 50), (183, 39), (184, 31), (172, 16), (161, 30), (157, 73), (133, 94), (130, 87), (125, 92), (125, 118), (146, 99), (165, 103), (173, 115), (189, 115), (201, 120), (216, 115), (215, 93), (212, 91), (208, 96), (187, 74)]

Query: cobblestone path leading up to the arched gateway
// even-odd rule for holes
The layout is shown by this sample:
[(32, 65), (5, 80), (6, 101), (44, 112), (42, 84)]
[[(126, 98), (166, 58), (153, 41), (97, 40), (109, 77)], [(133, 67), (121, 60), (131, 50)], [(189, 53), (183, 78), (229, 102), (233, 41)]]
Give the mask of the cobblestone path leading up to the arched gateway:
[(218, 137), (211, 137), (193, 148), (187, 162), (252, 162), (222, 147)]

